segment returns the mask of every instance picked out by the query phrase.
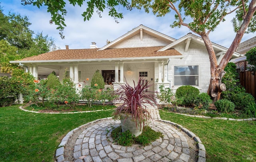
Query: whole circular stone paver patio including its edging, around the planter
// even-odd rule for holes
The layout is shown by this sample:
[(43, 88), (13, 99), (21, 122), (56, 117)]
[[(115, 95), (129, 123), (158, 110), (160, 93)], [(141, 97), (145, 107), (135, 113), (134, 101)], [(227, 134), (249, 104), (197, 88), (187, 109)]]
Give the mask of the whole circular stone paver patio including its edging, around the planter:
[(57, 162), (205, 162), (204, 145), (194, 133), (160, 118), (158, 109), (149, 107), (149, 126), (163, 134), (150, 145), (120, 146), (110, 137), (120, 121), (98, 119), (70, 131), (56, 150)]

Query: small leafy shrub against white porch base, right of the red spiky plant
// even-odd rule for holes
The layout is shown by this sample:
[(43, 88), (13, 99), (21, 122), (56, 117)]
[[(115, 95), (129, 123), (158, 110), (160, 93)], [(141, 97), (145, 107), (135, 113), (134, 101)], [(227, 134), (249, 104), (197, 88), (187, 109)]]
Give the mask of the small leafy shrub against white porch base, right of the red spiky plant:
[(160, 92), (157, 94), (157, 98), (161, 101), (164, 102), (170, 107), (172, 104), (172, 96), (174, 95), (172, 92), (172, 89), (170, 88), (164, 88), (164, 85), (159, 86)]

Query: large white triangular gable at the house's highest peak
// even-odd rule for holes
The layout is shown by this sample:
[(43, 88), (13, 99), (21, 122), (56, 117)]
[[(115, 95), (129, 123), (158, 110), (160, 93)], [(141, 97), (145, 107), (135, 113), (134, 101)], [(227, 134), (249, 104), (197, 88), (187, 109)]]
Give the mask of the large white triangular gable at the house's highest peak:
[(118, 39), (112, 41), (108, 45), (99, 49), (112, 49), (112, 48), (131, 48), (131, 47), (152, 47), (152, 46), (165, 46), (176, 39), (159, 33), (153, 29), (140, 25), (128, 33), (122, 35)]

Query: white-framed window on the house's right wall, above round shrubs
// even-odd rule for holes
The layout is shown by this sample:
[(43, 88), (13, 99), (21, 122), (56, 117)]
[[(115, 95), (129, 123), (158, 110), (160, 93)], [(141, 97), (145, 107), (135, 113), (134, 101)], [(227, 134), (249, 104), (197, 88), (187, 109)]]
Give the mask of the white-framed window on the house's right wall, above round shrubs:
[(198, 86), (198, 66), (174, 66), (174, 86)]

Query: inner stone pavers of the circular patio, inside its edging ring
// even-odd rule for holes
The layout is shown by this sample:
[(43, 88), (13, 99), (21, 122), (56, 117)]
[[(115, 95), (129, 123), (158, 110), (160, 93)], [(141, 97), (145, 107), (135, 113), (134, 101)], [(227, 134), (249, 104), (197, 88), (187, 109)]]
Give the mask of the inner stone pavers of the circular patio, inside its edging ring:
[(113, 128), (120, 126), (120, 121), (108, 120), (92, 125), (84, 130), (74, 146), (76, 162), (156, 162), (183, 160), (190, 158), (190, 149), (186, 138), (171, 125), (155, 121), (150, 124), (155, 131), (160, 131), (163, 138), (148, 146), (120, 146), (113, 144), (110, 137)]

